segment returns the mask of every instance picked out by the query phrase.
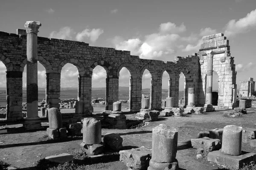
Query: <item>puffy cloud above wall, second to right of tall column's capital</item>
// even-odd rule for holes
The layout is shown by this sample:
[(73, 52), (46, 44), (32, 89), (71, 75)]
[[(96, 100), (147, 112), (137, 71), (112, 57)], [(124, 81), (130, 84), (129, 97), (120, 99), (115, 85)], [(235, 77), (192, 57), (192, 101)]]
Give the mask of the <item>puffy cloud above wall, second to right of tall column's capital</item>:
[(84, 38), (89, 38), (92, 42), (95, 42), (103, 32), (103, 29), (84, 29), (77, 33), (76, 40), (83, 41)]

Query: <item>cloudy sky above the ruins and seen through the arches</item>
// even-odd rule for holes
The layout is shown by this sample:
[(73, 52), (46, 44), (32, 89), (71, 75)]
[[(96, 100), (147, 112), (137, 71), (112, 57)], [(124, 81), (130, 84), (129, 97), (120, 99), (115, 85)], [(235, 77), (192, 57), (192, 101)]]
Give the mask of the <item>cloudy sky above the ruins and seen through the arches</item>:
[[(1, 1), (0, 31), (16, 33), (16, 29), (25, 29), (28, 20), (41, 22), (41, 37), (84, 41), (90, 46), (128, 50), (140, 58), (162, 61), (192, 55), (200, 49), (202, 36), (224, 33), (230, 40), (231, 56), (235, 57), (238, 89), (239, 81), (254, 78), (256, 72), (256, 0)], [(0, 77), (5, 77), (5, 71), (3, 63), (0, 64)], [(76, 75), (77, 68), (66, 64), (61, 72), (61, 87), (77, 87), (73, 83), (77, 81)], [(103, 86), (105, 75), (102, 67), (96, 67), (93, 87)], [(146, 70), (143, 88), (149, 88), (150, 77)], [(218, 88), (216, 79), (213, 89)], [(5, 84), (2, 81), (0, 86)], [(38, 86), (45, 87), (45, 69), (41, 64)], [(129, 86), (129, 72), (125, 68), (120, 72), (119, 86)], [(165, 73), (163, 88), (167, 87)]]

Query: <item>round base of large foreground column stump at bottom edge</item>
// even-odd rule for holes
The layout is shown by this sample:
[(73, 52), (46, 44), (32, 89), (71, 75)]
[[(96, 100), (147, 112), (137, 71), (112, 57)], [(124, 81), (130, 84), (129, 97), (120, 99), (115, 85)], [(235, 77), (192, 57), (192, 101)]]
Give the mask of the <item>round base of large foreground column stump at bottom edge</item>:
[(178, 170), (179, 164), (177, 159), (172, 163), (159, 163), (152, 159), (149, 161), (148, 170)]

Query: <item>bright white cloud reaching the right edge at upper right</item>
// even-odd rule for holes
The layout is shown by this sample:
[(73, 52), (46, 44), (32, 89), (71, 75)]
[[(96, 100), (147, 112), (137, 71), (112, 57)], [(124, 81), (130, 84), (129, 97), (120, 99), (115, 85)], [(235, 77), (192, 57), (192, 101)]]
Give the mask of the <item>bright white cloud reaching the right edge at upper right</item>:
[(256, 9), (243, 17), (236, 20), (230, 20), (225, 26), (225, 36), (233, 36), (240, 33), (249, 32), (256, 27)]

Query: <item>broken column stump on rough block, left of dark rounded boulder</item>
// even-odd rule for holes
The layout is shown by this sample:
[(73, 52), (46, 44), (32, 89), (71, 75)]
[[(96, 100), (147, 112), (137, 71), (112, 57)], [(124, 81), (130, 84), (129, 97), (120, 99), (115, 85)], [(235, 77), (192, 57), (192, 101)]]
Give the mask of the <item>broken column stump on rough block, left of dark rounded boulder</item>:
[(95, 118), (84, 118), (83, 142), (80, 146), (87, 155), (99, 155), (103, 152), (100, 121)]

